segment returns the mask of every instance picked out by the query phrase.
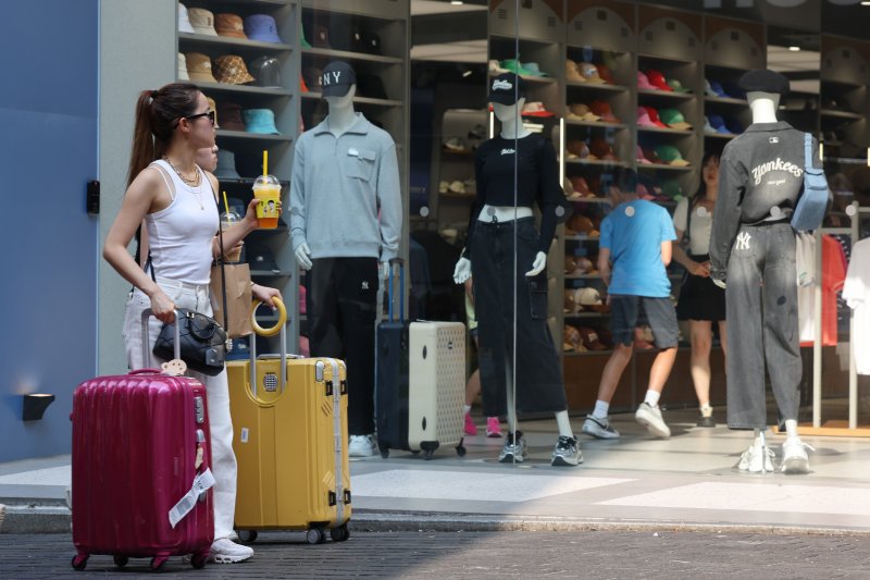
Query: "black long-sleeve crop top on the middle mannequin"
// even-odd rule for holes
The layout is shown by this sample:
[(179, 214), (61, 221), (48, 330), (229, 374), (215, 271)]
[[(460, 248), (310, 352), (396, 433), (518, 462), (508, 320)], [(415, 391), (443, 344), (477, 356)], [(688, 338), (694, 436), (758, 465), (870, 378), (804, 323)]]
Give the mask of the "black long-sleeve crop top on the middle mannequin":
[(477, 193), (471, 207), (468, 239), (463, 256), (471, 258), (471, 240), (474, 225), (484, 206), (513, 206), (514, 149), (517, 157), (517, 207), (533, 207), (540, 210), (540, 237), (538, 251), (546, 254), (556, 235), (557, 207), (564, 201), (559, 185), (559, 165), (556, 150), (549, 139), (533, 133), (521, 139), (495, 137), (477, 148), (474, 158), (474, 174)]

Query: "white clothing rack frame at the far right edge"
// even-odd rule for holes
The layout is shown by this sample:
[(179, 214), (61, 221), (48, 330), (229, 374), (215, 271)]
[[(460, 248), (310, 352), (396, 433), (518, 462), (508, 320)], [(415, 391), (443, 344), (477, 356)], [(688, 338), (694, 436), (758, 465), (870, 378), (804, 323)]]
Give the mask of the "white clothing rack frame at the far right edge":
[[(852, 245), (860, 239), (861, 215), (870, 215), (870, 207), (862, 208), (857, 201), (853, 201), (846, 208), (846, 215), (849, 217), (848, 227), (819, 227), (815, 231), (816, 238), (816, 282), (813, 288), (813, 340), (812, 340), (812, 428), (822, 427), (822, 235), (836, 234), (847, 235), (852, 238)], [(848, 429), (858, 428), (858, 372), (855, 368), (855, 357), (853, 353), (854, 343), (852, 337), (855, 333), (855, 312), (849, 309), (849, 416)]]

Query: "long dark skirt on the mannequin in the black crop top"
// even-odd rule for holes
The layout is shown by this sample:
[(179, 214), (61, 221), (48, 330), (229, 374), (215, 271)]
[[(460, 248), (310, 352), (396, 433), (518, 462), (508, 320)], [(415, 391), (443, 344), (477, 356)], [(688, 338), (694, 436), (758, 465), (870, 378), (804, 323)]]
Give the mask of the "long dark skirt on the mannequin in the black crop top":
[[(514, 224), (517, 274), (514, 275)], [(568, 408), (559, 358), (547, 325), (546, 272), (527, 277), (537, 250), (533, 218), (474, 224), (471, 268), (477, 318), (483, 412), (507, 414), (506, 360), (513, 360), (517, 321), (517, 410), (562, 411)], [(514, 294), (517, 316), (513, 316)]]

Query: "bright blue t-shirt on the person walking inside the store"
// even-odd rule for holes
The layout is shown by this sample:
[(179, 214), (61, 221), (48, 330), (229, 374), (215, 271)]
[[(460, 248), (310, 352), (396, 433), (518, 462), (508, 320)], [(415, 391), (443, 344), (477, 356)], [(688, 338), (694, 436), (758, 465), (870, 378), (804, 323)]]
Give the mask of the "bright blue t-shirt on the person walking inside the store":
[[(631, 215), (630, 215), (631, 214)], [(610, 249), (610, 294), (667, 298), (671, 281), (661, 243), (676, 239), (668, 211), (646, 199), (617, 206), (601, 221), (600, 247)]]

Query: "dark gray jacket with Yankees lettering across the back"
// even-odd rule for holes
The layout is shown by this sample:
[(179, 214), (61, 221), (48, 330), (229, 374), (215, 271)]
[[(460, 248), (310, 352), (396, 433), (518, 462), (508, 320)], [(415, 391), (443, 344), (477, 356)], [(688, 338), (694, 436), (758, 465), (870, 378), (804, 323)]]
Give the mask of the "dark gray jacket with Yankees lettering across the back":
[[(821, 166), (812, 140), (812, 165)], [(710, 233), (710, 276), (725, 280), (741, 225), (787, 222), (804, 190), (804, 133), (788, 123), (755, 123), (732, 139), (719, 162)]]

